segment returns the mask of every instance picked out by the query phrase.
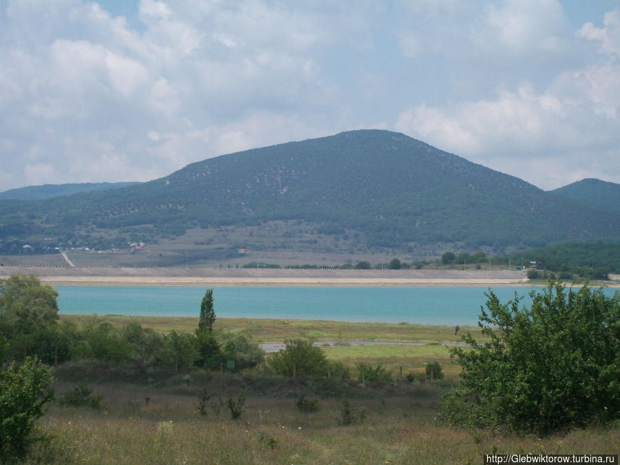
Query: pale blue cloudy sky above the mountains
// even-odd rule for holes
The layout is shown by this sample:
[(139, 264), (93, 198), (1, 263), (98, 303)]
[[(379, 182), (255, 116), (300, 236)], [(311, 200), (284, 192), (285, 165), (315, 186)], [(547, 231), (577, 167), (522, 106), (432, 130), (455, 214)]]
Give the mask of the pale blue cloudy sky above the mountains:
[(620, 183), (620, 0), (0, 0), (0, 191), (366, 128)]

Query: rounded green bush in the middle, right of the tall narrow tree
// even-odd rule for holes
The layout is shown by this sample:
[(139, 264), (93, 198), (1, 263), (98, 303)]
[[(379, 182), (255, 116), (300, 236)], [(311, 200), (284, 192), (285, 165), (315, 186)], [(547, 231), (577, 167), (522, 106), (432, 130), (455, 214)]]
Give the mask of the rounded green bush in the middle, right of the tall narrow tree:
[(278, 375), (327, 375), (327, 358), (319, 347), (301, 339), (285, 341), (286, 347), (267, 358), (267, 369)]

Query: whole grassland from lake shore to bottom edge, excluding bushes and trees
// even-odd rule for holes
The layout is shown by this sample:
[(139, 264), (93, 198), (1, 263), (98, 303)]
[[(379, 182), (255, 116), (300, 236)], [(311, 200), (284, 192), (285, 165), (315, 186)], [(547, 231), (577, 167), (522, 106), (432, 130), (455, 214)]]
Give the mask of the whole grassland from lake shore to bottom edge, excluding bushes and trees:
[[(79, 320), (84, 317), (63, 317)], [(157, 331), (193, 331), (196, 318), (109, 317), (115, 324), (137, 321)], [(42, 419), (45, 441), (30, 462), (114, 464), (478, 464), (486, 453), (618, 453), (620, 424), (548, 437), (449, 428), (437, 420), (442, 393), (457, 382), (458, 366), (448, 348), (450, 327), (293, 320), (216, 320), (223, 336), (245, 334), (257, 342), (313, 337), (340, 341), (323, 347), (329, 360), (351, 367), (353, 380), (282, 378), (247, 373), (191, 370), (137, 372), (125, 365), (71, 362), (56, 369), (56, 393), (87, 382), (103, 403), (99, 409), (53, 402)], [(471, 331), (479, 331), (471, 329)], [(420, 345), (349, 345), (346, 341), (410, 341)], [(407, 382), (411, 371), (439, 361), (446, 378)], [(356, 363), (382, 364), (393, 382), (360, 384)], [(398, 382), (400, 366), (403, 379)], [(209, 400), (199, 413), (199, 391)], [(300, 395), (320, 409), (302, 413)], [(231, 418), (228, 397), (245, 398)], [(351, 411), (343, 413), (343, 400)], [(347, 424), (349, 423), (349, 424)]]

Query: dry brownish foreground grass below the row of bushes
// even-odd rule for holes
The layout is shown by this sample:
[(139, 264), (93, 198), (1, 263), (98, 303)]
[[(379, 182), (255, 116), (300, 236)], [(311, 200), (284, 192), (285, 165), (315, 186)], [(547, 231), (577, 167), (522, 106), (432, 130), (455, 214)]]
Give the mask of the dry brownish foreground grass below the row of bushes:
[[(550, 437), (448, 428), (437, 420), (448, 385), (348, 386), (313, 396), (316, 413), (302, 413), (296, 396), (311, 382), (240, 375), (172, 378), (165, 387), (119, 383), (94, 386), (101, 409), (52, 404), (43, 421), (51, 437), (30, 459), (114, 464), (479, 464), (486, 453), (617, 453), (620, 426), (601, 425)], [(257, 395), (263, 384), (267, 393)], [(59, 386), (59, 390), (67, 385)], [(206, 415), (198, 390), (211, 393)], [(221, 405), (245, 393), (238, 420)], [(350, 399), (344, 424), (342, 399)]]

